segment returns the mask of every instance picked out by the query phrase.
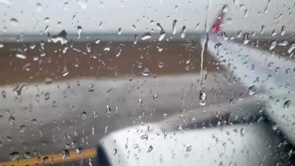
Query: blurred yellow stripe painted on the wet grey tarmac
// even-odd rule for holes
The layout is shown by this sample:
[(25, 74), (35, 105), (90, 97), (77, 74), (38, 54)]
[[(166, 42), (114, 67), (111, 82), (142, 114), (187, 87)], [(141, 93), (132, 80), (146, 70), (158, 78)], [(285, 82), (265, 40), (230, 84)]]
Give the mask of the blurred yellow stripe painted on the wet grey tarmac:
[[(78, 154), (77, 151), (70, 151), (70, 157), (68, 159), (63, 159), (63, 153), (51, 154), (33, 157), (30, 159), (19, 159), (16, 161), (3, 162), (0, 166), (36, 166), (38, 165), (49, 165), (57, 163), (65, 163), (70, 161), (77, 161), (82, 159), (94, 158), (97, 155), (97, 149), (84, 149), (82, 154)], [(48, 161), (43, 163), (43, 158), (48, 157)]]

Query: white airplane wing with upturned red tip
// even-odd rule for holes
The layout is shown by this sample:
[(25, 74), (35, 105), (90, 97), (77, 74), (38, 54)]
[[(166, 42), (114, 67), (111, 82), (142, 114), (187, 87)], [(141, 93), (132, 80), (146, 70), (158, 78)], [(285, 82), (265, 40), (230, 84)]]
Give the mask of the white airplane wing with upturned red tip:
[[(225, 13), (221, 11), (209, 33), (208, 51), (220, 63), (241, 79), (250, 95), (267, 100), (262, 111), (277, 125), (287, 138), (295, 145), (294, 93), (295, 62), (291, 58), (294, 46), (291, 45), (289, 55), (280, 55), (273, 50), (281, 47), (273, 41), (269, 50), (247, 45), (248, 34), (244, 34), (241, 42), (221, 37), (221, 23)], [(224, 34), (223, 34), (224, 35)], [(256, 105), (256, 102), (252, 103)]]

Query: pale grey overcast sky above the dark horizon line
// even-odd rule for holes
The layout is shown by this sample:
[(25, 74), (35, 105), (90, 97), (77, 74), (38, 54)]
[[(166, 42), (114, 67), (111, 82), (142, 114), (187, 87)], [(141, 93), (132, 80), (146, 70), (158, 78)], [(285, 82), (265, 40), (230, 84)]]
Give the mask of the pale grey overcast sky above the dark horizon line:
[[(171, 33), (176, 19), (177, 33), (182, 26), (186, 26), (186, 32), (195, 32), (198, 23), (198, 31), (204, 30), (206, 14), (208, 24), (211, 24), (223, 4), (228, 4), (226, 17), (231, 21), (224, 21), (224, 31), (260, 32), (264, 25), (265, 32), (276, 29), (280, 33), (285, 25), (288, 33), (295, 29), (292, 22), (295, 18), (294, 1), (272, 0), (265, 10), (268, 0), (235, 0), (235, 3), (233, 0), (209, 0), (206, 12), (207, 0), (0, 0), (0, 31), (3, 34), (38, 34), (49, 26), (48, 32), (52, 34), (63, 29), (67, 33), (77, 33), (77, 26), (82, 26), (84, 34), (116, 33), (119, 28), (124, 34), (134, 33), (133, 24), (136, 33), (144, 33), (146, 28), (148, 32), (151, 29), (157, 32), (160, 30), (156, 29), (156, 23), (160, 23), (166, 33)], [(44, 20), (46, 17), (49, 17), (49, 22)], [(12, 18), (17, 19), (17, 25), (11, 23)], [(151, 20), (153, 25), (150, 25)]]

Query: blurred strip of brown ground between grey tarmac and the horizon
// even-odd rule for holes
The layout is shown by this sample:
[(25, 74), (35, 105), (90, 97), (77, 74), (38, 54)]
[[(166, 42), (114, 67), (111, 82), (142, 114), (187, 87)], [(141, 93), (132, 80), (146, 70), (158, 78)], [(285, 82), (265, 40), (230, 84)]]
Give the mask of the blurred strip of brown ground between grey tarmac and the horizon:
[[(35, 44), (32, 50), (30, 46)], [(59, 43), (45, 43), (41, 50), (40, 43), (4, 43), (0, 49), (0, 84), (14, 84), (16, 82), (42, 82), (46, 77), (55, 80), (64, 80), (77, 77), (132, 77), (140, 76), (144, 67), (148, 67), (149, 76), (198, 73), (200, 71), (201, 47), (197, 41), (183, 42), (113, 42), (110, 51), (104, 48), (109, 43), (91, 43), (91, 52), (87, 52), (86, 43), (73, 43), (68, 48)], [(163, 48), (160, 52), (157, 47)], [(118, 48), (121, 54), (116, 57)], [(16, 58), (16, 49), (26, 50), (26, 59)], [(73, 49), (81, 50), (81, 52)], [(40, 56), (45, 52), (45, 56)], [(216, 70), (213, 59), (205, 51), (206, 67)], [(190, 61), (187, 59), (190, 56)], [(38, 57), (38, 60), (33, 60)], [(163, 62), (164, 66), (159, 67)], [(142, 64), (141, 67), (140, 63)], [(28, 67), (24, 67), (30, 64)], [(75, 65), (78, 65), (77, 67)], [(187, 67), (188, 66), (188, 67)], [(69, 71), (66, 77), (62, 76), (64, 67)], [(27, 68), (27, 69), (26, 69)]]

